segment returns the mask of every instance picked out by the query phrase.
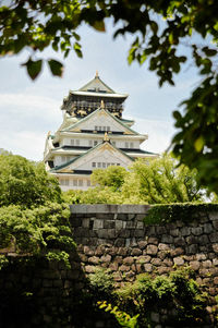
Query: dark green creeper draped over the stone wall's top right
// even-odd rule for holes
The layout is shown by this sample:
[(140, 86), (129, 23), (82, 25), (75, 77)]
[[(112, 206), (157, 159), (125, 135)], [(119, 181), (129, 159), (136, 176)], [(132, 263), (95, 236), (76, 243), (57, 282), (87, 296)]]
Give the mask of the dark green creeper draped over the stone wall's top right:
[(208, 216), (211, 211), (218, 211), (215, 203), (181, 203), (167, 205), (153, 205), (145, 217), (146, 224), (168, 223), (177, 220), (189, 222)]

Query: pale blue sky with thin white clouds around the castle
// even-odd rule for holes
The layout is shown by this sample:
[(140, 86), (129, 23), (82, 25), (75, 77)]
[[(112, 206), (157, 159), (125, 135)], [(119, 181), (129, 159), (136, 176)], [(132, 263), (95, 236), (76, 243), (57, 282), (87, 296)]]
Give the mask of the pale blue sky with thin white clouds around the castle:
[[(89, 27), (80, 28), (84, 58), (73, 52), (64, 61), (62, 78), (52, 77), (47, 68), (32, 82), (21, 63), (27, 51), (19, 57), (0, 59), (0, 148), (41, 160), (48, 131), (52, 133), (62, 122), (60, 106), (70, 89), (77, 89), (95, 76), (118, 93), (129, 94), (123, 118), (134, 119), (133, 126), (148, 134), (142, 148), (162, 153), (170, 145), (174, 133), (172, 111), (190, 96), (198, 80), (192, 66), (186, 65), (177, 76), (174, 87), (158, 87), (158, 78), (147, 65), (128, 64), (131, 37), (112, 40), (111, 26), (107, 33)], [(38, 57), (61, 59), (48, 50)], [(189, 66), (189, 69), (187, 69)]]

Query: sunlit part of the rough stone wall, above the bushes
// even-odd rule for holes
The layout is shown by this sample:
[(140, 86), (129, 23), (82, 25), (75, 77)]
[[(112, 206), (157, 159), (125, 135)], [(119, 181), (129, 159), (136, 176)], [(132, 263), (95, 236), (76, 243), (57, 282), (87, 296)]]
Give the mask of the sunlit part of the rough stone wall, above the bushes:
[(217, 295), (218, 214), (199, 215), (190, 223), (145, 226), (147, 210), (145, 205), (72, 205), (84, 272), (109, 268), (122, 284), (142, 272), (164, 275), (190, 266), (209, 295)]

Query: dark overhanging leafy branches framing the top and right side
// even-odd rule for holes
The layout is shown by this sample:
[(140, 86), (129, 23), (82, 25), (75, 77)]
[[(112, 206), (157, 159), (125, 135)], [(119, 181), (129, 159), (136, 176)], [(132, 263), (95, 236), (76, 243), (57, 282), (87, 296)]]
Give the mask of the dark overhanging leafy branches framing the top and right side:
[[(82, 57), (77, 28), (86, 23), (105, 32), (106, 19), (112, 19), (114, 37), (129, 33), (135, 36), (129, 63), (148, 61), (161, 86), (166, 82), (174, 84), (174, 75), (187, 60), (187, 46), (202, 80), (183, 102), (183, 113), (173, 113), (178, 133), (172, 148), (180, 163), (198, 170), (201, 184), (218, 192), (217, 12), (216, 0), (5, 1), (0, 7), (0, 56), (29, 49), (31, 56), (23, 65), (35, 80), (44, 63), (39, 52), (52, 47), (64, 57), (71, 49)], [(214, 44), (205, 44), (207, 38)], [(46, 61), (53, 75), (62, 74), (61, 62), (50, 58)]]

